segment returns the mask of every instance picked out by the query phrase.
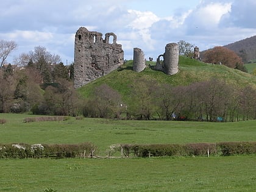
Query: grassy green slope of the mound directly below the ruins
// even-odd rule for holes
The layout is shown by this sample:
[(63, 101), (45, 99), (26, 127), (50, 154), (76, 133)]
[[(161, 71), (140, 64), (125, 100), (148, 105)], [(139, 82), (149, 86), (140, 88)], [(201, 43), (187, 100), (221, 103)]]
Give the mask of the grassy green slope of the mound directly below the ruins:
[[(148, 65), (155, 65), (154, 62), (147, 62)], [(94, 80), (84, 87), (79, 88), (82, 96), (90, 95), (94, 87), (102, 84), (107, 84), (123, 96), (129, 93), (129, 85), (134, 80), (140, 80), (140, 77), (156, 80), (159, 83), (170, 84), (172, 86), (190, 85), (193, 82), (203, 82), (212, 78), (221, 79), (228, 84), (235, 84), (238, 87), (251, 85), (256, 88), (256, 77), (251, 74), (244, 73), (237, 69), (231, 69), (224, 65), (212, 65), (204, 62), (199, 62), (189, 57), (179, 57), (179, 73), (168, 76), (162, 71), (155, 71), (151, 68), (146, 68), (141, 73), (132, 71), (133, 61), (129, 60), (121, 66), (121, 68), (112, 71), (104, 77)], [(140, 83), (140, 82), (138, 82)]]

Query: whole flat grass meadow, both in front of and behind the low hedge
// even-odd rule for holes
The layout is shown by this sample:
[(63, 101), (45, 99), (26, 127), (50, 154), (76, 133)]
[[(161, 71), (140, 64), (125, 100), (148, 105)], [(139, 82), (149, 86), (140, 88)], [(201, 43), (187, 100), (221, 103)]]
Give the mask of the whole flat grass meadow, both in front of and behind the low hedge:
[[(256, 121), (117, 121), (84, 118), (23, 123), (0, 114), (0, 143), (82, 143), (105, 156), (118, 143), (256, 141)], [(256, 155), (231, 157), (1, 159), (0, 191), (255, 191)]]

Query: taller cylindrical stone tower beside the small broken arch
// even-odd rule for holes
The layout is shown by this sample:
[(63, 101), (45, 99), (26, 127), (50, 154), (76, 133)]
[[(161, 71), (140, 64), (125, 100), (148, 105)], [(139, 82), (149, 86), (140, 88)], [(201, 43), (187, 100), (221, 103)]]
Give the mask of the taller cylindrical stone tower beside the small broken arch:
[(163, 71), (169, 75), (178, 73), (179, 44), (177, 43), (166, 44), (164, 58), (165, 58), (165, 62), (163, 66)]

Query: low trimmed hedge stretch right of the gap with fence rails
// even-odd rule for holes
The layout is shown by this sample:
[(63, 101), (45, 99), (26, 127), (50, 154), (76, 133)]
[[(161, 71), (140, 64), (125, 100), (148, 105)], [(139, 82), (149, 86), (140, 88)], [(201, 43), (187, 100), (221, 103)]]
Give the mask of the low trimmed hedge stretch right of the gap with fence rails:
[[(115, 146), (115, 148), (113, 148)], [(112, 149), (123, 156), (229, 156), (256, 154), (256, 142), (221, 142), (188, 144), (117, 144)]]

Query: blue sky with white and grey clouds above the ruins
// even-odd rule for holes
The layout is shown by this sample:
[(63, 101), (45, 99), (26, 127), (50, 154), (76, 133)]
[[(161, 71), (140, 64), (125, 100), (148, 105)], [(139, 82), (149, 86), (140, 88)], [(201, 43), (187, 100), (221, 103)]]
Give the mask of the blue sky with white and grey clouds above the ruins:
[(133, 48), (155, 60), (180, 40), (203, 51), (256, 35), (255, 0), (0, 1), (0, 39), (18, 44), (9, 63), (36, 46), (73, 63), (74, 35), (82, 26), (103, 38), (115, 33), (127, 60)]

